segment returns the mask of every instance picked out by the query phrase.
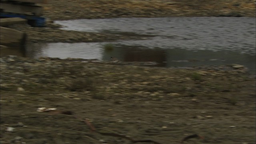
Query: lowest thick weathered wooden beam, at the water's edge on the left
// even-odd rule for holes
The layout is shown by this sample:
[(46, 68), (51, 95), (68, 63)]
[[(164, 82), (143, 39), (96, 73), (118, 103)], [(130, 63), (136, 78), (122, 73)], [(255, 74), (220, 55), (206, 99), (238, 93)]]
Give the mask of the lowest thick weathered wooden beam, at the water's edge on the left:
[(4, 46), (22, 46), (26, 42), (26, 34), (18, 30), (0, 27), (0, 43)]

